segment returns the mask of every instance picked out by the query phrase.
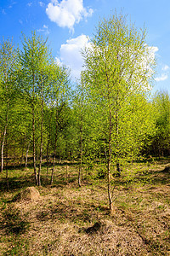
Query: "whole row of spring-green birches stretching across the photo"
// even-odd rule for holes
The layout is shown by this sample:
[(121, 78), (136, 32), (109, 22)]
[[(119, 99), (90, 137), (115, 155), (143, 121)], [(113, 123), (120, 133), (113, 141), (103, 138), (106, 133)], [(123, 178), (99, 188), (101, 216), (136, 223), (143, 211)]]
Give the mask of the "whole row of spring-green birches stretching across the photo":
[(41, 185), (43, 158), (50, 183), (56, 159), (77, 160), (81, 185), (84, 165), (105, 163), (112, 210), (111, 165), (120, 176), (126, 161), (169, 155), (170, 99), (151, 94), (156, 62), (146, 31), (124, 15), (100, 20), (82, 57), (71, 86), (69, 69), (36, 32), (23, 35), (21, 49), (9, 39), (0, 44), (1, 172), (12, 158), (27, 166), (31, 157)]

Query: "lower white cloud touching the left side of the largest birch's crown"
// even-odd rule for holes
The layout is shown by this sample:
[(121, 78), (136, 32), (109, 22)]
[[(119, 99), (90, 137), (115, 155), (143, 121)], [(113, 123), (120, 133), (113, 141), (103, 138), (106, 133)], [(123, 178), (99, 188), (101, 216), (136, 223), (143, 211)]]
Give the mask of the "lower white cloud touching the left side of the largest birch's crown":
[(90, 43), (86, 35), (81, 35), (77, 38), (71, 38), (62, 44), (59, 49), (59, 57), (56, 57), (58, 64), (65, 64), (71, 68), (71, 75), (78, 79), (82, 71), (82, 54), (81, 50), (84, 47), (90, 47)]

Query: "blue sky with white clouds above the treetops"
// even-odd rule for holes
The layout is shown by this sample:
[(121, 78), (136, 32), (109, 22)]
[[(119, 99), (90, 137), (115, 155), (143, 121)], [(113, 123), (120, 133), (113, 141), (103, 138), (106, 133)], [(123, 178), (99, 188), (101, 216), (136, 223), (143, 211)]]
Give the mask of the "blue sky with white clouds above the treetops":
[(154, 47), (157, 67), (154, 90), (170, 92), (170, 1), (169, 0), (0, 0), (0, 40), (13, 38), (20, 44), (37, 31), (48, 44), (56, 61), (71, 67), (78, 77), (82, 66), (80, 49), (88, 44), (99, 18), (111, 11), (124, 15), (137, 27), (146, 27), (147, 44)]

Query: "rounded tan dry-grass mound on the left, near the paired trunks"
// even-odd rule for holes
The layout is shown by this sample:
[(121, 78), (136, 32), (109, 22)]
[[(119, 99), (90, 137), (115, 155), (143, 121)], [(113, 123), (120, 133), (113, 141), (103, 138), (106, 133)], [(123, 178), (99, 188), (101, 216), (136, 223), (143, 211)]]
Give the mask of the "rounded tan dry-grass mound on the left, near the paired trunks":
[(33, 201), (40, 197), (39, 191), (35, 187), (28, 187), (14, 196), (14, 201)]

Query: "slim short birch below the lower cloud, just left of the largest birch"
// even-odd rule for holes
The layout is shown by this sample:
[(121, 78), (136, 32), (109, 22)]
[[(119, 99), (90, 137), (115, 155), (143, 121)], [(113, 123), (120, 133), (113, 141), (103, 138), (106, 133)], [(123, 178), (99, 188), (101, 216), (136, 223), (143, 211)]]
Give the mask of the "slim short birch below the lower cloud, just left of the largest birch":
[(96, 137), (92, 125), (91, 111), (93, 111), (93, 106), (88, 101), (88, 91), (83, 74), (79, 83), (77, 83), (72, 105), (72, 130), (74, 131), (72, 132), (71, 148), (74, 148), (75, 158), (79, 161), (78, 184), (81, 187), (83, 168), (88, 167), (88, 165), (84, 166), (84, 163), (91, 162), (91, 159), (95, 159), (95, 156), (99, 153), (99, 150), (95, 147), (99, 137)]

